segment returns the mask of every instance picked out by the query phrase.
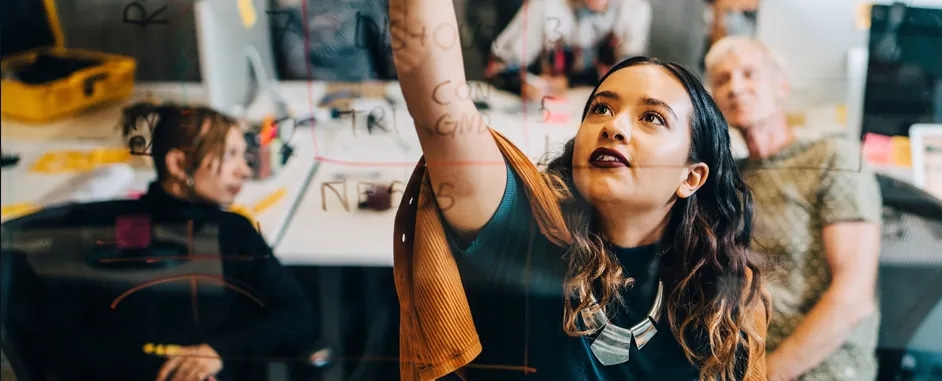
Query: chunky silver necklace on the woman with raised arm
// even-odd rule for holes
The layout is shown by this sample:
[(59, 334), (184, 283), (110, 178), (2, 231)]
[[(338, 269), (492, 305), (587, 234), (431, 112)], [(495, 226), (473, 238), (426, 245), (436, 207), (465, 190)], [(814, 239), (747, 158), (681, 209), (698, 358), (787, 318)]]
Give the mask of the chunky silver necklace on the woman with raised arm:
[(605, 316), (605, 311), (599, 307), (595, 295), (589, 295), (592, 297), (592, 306), (582, 310), (582, 320), (586, 328), (593, 333), (601, 330), (595, 340), (592, 341), (590, 348), (595, 358), (599, 359), (602, 365), (609, 366), (628, 362), (628, 353), (632, 341), (640, 350), (657, 334), (654, 323), (661, 317), (664, 282), (657, 282), (657, 296), (654, 297), (654, 303), (651, 310), (648, 311), (648, 316), (638, 324), (631, 326), (631, 328), (622, 328), (612, 324)]

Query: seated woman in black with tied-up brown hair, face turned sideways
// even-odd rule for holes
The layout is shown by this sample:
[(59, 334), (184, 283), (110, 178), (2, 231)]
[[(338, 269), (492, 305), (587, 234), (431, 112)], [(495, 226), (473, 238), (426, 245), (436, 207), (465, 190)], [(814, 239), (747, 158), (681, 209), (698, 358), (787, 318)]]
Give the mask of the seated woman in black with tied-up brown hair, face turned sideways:
[[(192, 276), (186, 282), (201, 285), (179, 292), (169, 282), (155, 285), (122, 299), (120, 307), (109, 307), (118, 295), (109, 292), (125, 289), (114, 278), (101, 278), (108, 288), (105, 283), (98, 288), (96, 281), (95, 292), (79, 296), (80, 322), (56, 322), (81, 327), (57, 328), (79, 336), (51, 341), (51, 374), (62, 380), (258, 380), (264, 366), (244, 359), (302, 358), (313, 352), (316, 330), (309, 322), (314, 311), (303, 289), (256, 227), (225, 210), (252, 175), (239, 121), (207, 107), (141, 102), (124, 109), (119, 127), (132, 153), (153, 159), (156, 179), (147, 193), (138, 200), (76, 209), (94, 213), (57, 223), (77, 229), (110, 225), (120, 231), (122, 220), (144, 221), (134, 225), (145, 226), (134, 233), (145, 237), (134, 238), (143, 244), (121, 238), (98, 243), (87, 258), (112, 261), (96, 263), (102, 273), (86, 270), (96, 274), (89, 276), (133, 269), (186, 274)], [(218, 273), (204, 270), (214, 266)], [(154, 283), (162, 282), (166, 279)], [(207, 291), (213, 286), (222, 291)], [(81, 343), (78, 350), (76, 343)], [(166, 353), (155, 349), (164, 347)]]

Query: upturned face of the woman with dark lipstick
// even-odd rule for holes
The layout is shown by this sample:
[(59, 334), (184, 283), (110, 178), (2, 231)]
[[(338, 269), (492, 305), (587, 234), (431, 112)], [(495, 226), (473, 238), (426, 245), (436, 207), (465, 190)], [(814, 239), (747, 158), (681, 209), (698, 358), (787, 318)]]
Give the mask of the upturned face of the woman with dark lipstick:
[(703, 164), (693, 170), (687, 163), (692, 113), (686, 89), (666, 69), (643, 64), (612, 73), (593, 94), (576, 134), (572, 166), (579, 193), (596, 209), (626, 211), (689, 196), (691, 172), (705, 175)]

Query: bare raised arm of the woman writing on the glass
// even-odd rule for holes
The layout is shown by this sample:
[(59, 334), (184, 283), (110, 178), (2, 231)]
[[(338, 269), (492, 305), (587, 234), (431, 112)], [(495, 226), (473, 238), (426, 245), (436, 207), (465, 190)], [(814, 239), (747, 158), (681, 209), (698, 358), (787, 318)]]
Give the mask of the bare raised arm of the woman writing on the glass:
[(390, 43), (446, 222), (473, 237), (500, 204), (507, 169), (468, 96), (450, 0), (390, 0)]

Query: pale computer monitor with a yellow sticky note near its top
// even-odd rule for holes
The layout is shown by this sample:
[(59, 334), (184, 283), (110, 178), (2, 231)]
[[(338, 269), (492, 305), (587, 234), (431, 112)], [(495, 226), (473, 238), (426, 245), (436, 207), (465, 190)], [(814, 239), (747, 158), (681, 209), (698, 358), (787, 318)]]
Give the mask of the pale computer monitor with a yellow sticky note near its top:
[[(254, 9), (240, 9), (243, 1), (237, 0), (198, 0), (194, 5), (207, 104), (222, 113), (243, 117), (256, 95), (264, 92), (281, 108), (275, 110), (276, 114), (283, 114), (265, 13), (268, 0), (244, 1), (251, 2)], [(248, 26), (243, 21), (246, 16), (254, 20)]]

